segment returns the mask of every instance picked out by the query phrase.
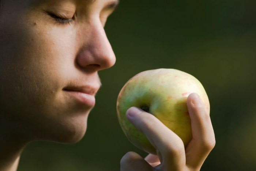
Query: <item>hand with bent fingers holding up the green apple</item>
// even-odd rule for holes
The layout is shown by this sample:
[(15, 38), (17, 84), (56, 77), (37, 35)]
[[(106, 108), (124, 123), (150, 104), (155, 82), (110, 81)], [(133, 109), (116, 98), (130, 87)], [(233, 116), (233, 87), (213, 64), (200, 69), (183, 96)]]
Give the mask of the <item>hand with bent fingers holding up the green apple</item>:
[(192, 140), (186, 149), (181, 138), (154, 115), (136, 107), (129, 108), (126, 112), (128, 120), (146, 135), (157, 149), (157, 155), (149, 154), (143, 159), (135, 152), (128, 152), (120, 161), (121, 171), (199, 171), (215, 146), (215, 136), (210, 112), (196, 93), (188, 96), (187, 106)]

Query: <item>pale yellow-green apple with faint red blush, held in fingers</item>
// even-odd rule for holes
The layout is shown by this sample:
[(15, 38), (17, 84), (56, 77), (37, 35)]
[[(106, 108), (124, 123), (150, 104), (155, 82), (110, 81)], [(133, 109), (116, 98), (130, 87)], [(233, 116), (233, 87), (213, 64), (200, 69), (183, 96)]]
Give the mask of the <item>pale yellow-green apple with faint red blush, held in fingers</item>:
[(135, 106), (157, 117), (181, 138), (186, 148), (192, 139), (187, 97), (193, 92), (200, 96), (210, 113), (210, 103), (204, 87), (188, 73), (161, 68), (133, 76), (125, 83), (117, 98), (118, 121), (128, 140), (145, 152), (157, 154), (146, 136), (125, 116), (126, 111)]

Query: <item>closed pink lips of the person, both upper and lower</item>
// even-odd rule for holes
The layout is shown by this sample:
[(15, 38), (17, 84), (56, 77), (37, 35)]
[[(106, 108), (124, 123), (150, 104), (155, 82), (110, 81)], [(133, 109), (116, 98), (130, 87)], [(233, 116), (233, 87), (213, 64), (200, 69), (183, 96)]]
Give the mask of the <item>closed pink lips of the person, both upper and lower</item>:
[(95, 105), (95, 94), (99, 90), (99, 87), (93, 86), (68, 86), (63, 88), (63, 90), (68, 93), (76, 101), (93, 107)]

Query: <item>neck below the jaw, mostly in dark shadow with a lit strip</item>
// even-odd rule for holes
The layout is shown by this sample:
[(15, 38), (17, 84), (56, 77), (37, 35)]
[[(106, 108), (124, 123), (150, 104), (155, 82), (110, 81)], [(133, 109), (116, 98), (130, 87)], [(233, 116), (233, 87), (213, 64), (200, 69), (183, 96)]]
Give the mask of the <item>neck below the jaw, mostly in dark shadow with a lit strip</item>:
[(20, 155), (28, 141), (22, 137), (24, 129), (14, 121), (0, 118), (0, 170), (16, 171)]

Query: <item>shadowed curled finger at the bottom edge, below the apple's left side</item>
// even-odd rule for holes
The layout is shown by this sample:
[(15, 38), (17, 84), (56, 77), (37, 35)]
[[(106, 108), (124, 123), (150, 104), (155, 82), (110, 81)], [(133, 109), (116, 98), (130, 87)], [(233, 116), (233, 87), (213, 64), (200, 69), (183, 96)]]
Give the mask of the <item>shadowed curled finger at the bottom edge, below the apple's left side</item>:
[(120, 161), (121, 171), (153, 171), (154, 168), (148, 164), (142, 156), (135, 152), (126, 153)]

